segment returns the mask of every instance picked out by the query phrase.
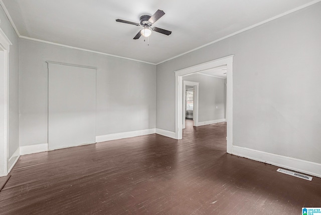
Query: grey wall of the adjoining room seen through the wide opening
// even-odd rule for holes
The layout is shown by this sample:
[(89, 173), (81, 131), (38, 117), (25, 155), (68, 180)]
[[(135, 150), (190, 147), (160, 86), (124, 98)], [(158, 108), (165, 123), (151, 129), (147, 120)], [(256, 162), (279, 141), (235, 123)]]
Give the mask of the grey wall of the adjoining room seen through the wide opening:
[(183, 80), (199, 82), (199, 123), (225, 119), (225, 79), (192, 74)]

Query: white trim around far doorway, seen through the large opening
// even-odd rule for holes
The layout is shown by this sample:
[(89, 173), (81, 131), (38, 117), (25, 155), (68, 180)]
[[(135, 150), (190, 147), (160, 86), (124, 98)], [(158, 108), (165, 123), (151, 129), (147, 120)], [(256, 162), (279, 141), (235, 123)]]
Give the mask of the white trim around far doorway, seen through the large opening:
[(183, 116), (182, 116), (182, 120), (183, 120), (183, 129), (185, 129), (185, 118), (186, 118), (186, 85), (188, 86), (194, 86), (195, 87), (195, 91), (194, 91), (194, 98), (196, 98), (195, 100), (195, 115), (193, 115), (194, 117), (194, 126), (197, 126), (199, 123), (199, 82), (195, 82), (195, 81), (187, 81), (184, 80), (183, 81), (183, 93), (184, 93), (184, 97), (183, 97)]

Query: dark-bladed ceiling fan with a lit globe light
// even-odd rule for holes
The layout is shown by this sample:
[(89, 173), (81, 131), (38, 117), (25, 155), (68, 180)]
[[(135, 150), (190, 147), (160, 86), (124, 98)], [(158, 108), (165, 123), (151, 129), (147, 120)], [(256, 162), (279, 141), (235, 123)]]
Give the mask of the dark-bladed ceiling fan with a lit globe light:
[(172, 34), (171, 31), (165, 30), (165, 29), (161, 29), (161, 28), (157, 28), (157, 27), (151, 27), (152, 24), (154, 24), (157, 20), (159, 20), (159, 18), (163, 17), (165, 15), (164, 11), (161, 10), (157, 10), (154, 15), (149, 16), (149, 15), (142, 15), (139, 18), (139, 22), (140, 23), (134, 23), (134, 22), (130, 22), (130, 21), (126, 21), (126, 20), (120, 20), (117, 19), (116, 22), (119, 23), (127, 23), (130, 25), (135, 25), (135, 26), (142, 26), (144, 27), (142, 30), (140, 30), (138, 32), (138, 34), (136, 34), (136, 36), (133, 38), (134, 40), (137, 40), (141, 35), (144, 37), (149, 37), (151, 35), (151, 31), (155, 31), (161, 34), (165, 34), (165, 35), (170, 35)]

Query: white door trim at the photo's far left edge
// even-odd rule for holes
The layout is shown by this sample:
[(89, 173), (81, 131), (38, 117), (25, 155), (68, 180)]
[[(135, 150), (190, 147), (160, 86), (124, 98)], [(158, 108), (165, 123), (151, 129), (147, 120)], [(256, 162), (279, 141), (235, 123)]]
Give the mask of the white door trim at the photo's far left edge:
[(0, 28), (0, 176), (9, 168), (9, 51), (12, 43)]

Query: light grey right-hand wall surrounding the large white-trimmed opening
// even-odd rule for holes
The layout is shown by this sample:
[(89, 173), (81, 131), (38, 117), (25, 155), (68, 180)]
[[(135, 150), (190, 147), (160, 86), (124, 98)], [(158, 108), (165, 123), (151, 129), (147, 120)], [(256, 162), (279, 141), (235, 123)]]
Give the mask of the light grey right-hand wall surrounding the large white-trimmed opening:
[(234, 54), (233, 145), (321, 163), (320, 11), (317, 3), (157, 65), (156, 128), (175, 132), (174, 71)]

